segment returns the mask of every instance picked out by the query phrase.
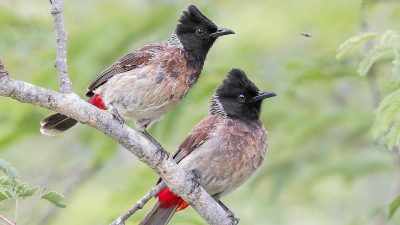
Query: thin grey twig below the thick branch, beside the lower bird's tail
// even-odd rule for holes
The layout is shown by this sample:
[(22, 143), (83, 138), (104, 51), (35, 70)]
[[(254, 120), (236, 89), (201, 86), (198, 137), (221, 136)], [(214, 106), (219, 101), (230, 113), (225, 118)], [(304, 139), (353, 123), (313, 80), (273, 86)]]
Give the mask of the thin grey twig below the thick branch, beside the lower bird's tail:
[(137, 201), (130, 209), (128, 209), (125, 213), (120, 215), (114, 222), (112, 222), (110, 225), (125, 225), (125, 221), (131, 217), (133, 214), (135, 214), (136, 211), (139, 209), (142, 209), (146, 203), (156, 196), (161, 189), (165, 187), (164, 182), (160, 182), (156, 186), (154, 186), (145, 196), (143, 196), (139, 201)]

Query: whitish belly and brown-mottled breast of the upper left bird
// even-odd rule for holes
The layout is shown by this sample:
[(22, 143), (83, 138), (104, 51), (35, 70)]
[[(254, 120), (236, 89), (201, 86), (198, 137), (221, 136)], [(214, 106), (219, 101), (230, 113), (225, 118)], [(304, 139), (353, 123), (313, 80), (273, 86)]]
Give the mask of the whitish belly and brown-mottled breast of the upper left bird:
[(200, 74), (178, 53), (154, 57), (148, 65), (112, 77), (100, 90), (105, 103), (136, 121), (162, 116), (185, 97)]

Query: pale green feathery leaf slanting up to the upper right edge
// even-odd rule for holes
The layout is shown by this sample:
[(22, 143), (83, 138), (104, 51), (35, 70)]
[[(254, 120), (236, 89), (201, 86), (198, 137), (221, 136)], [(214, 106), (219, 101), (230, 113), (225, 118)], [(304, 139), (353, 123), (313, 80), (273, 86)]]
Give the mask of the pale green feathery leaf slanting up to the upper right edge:
[(357, 69), (357, 73), (361, 76), (367, 75), (371, 66), (386, 52), (394, 48), (398, 38), (399, 36), (394, 31), (386, 31), (379, 40), (379, 43), (375, 45), (361, 60)]

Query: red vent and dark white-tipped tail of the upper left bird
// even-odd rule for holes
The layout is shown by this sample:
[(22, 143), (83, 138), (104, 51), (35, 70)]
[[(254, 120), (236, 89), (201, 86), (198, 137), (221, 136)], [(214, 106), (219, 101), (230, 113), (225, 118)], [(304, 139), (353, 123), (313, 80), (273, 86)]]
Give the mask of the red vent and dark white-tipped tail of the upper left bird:
[[(94, 94), (88, 102), (99, 109), (107, 109), (104, 105), (103, 99), (99, 94)], [(40, 132), (45, 135), (53, 136), (60, 132), (66, 131), (75, 126), (77, 121), (69, 118), (66, 115), (56, 113), (44, 118), (40, 122)]]

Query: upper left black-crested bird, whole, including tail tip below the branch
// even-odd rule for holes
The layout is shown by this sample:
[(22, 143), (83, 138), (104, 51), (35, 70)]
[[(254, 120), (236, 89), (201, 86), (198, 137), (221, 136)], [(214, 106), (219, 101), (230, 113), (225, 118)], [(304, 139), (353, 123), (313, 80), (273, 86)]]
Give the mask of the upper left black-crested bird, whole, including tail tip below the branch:
[[(87, 101), (110, 111), (121, 124), (125, 118), (135, 121), (138, 130), (160, 146), (147, 129), (186, 96), (214, 42), (229, 34), (234, 31), (218, 28), (190, 5), (168, 40), (138, 48), (101, 72), (88, 86)], [(40, 131), (55, 135), (76, 123), (56, 113), (41, 121)]]

